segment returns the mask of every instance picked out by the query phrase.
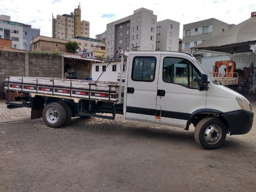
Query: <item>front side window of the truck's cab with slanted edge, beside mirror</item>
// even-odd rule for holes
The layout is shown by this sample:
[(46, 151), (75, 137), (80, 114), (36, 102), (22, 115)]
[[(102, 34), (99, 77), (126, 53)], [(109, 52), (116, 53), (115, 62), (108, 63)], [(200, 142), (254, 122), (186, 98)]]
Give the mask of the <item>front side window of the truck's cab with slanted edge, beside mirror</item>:
[(200, 73), (183, 58), (164, 58), (163, 81), (187, 88), (199, 88)]

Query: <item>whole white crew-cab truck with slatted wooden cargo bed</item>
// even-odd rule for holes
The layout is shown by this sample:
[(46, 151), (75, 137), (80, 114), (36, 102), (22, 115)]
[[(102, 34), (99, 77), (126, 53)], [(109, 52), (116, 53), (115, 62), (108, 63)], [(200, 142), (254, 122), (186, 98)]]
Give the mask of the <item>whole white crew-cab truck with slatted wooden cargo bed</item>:
[(220, 148), (226, 134), (251, 130), (254, 114), (248, 100), (218, 85), (191, 54), (118, 52), (126, 63), (120, 70), (125, 66), (125, 80), (122, 75), (119, 82), (9, 76), (6, 95), (21, 95), (16, 97), (20, 103), (7, 98), (7, 107), (30, 107), (31, 119), (43, 117), (53, 128), (74, 116), (114, 119), (116, 114), (185, 130), (193, 124), (194, 138), (205, 149)]

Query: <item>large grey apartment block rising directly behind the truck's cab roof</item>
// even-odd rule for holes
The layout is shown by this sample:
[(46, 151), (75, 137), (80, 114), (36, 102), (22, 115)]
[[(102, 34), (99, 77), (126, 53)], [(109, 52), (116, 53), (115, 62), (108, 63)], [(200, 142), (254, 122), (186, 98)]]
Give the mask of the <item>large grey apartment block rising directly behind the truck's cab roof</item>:
[[(123, 50), (155, 50), (156, 21), (153, 11), (140, 8), (134, 14), (107, 24), (106, 55), (112, 58), (119, 48)], [(118, 59), (116, 56), (115, 59)]]

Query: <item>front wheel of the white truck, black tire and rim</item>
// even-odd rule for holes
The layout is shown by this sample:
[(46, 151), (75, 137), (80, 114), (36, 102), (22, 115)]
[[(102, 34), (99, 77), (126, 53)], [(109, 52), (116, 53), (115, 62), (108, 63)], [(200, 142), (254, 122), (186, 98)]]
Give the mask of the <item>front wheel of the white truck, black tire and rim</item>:
[(194, 131), (194, 138), (203, 148), (218, 149), (226, 139), (227, 128), (222, 120), (206, 117), (200, 120)]

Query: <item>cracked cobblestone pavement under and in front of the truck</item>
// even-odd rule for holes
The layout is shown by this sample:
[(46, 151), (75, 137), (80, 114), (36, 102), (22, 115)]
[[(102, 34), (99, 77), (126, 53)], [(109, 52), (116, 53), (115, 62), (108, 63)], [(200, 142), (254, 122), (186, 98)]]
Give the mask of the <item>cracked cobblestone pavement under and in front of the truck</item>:
[[(256, 112), (256, 96), (247, 97)], [(58, 129), (0, 101), (0, 191), (256, 191), (256, 128), (204, 150), (186, 131), (72, 118)]]

